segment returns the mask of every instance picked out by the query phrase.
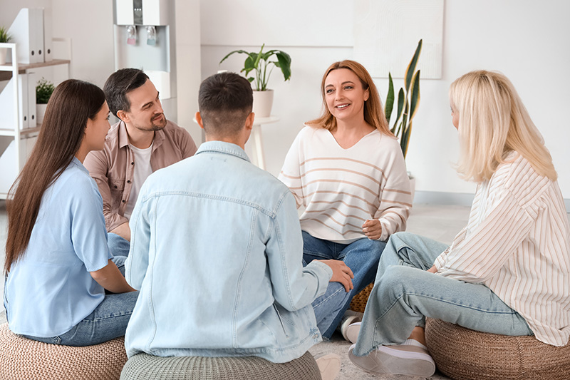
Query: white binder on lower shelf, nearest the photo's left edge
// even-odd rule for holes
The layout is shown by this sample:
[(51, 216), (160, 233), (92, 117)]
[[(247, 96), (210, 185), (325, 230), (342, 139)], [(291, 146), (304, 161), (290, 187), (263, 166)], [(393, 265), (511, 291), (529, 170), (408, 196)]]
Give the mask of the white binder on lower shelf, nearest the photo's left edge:
[[(14, 115), (14, 82), (18, 81), (18, 123), (20, 129), (28, 128), (28, 74), (19, 74), (10, 78), (4, 90), (0, 93), (0, 115)], [(35, 94), (35, 92), (34, 92)], [(35, 101), (34, 101), (35, 103)], [(35, 114), (35, 113), (34, 113)], [(14, 118), (1, 117), (1, 129), (14, 129)]]

